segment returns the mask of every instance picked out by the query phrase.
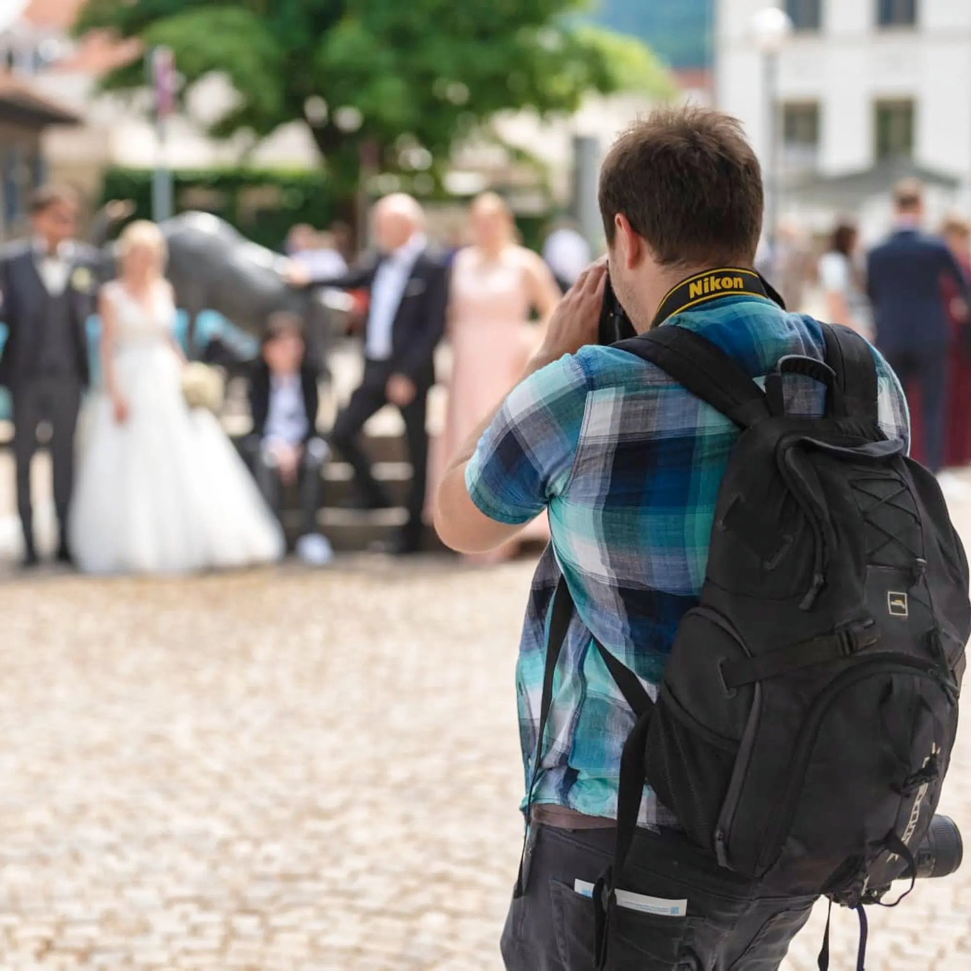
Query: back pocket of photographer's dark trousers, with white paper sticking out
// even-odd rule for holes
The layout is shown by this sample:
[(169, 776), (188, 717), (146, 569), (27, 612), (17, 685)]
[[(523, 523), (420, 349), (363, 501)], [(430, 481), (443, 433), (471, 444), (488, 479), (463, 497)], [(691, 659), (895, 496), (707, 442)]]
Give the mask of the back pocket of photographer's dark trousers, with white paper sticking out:
[[(550, 891), (560, 962), (566, 971), (592, 971), (593, 900), (557, 881)], [(607, 971), (677, 971), (688, 921), (617, 907), (607, 945)]]

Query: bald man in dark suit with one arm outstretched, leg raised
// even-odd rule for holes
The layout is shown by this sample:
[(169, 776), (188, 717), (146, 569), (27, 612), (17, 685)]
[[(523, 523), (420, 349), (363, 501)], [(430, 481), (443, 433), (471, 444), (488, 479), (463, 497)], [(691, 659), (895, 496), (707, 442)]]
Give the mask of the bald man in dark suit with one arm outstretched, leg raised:
[(385, 404), (394, 405), (405, 421), (412, 486), (408, 522), (396, 552), (419, 552), (421, 514), (427, 483), (428, 436), (425, 415), (428, 391), (435, 382), (434, 352), (445, 331), (449, 271), (424, 235), (424, 214), (411, 196), (385, 196), (375, 207), (375, 235), (381, 254), (354, 267), (346, 276), (314, 281), (318, 285), (370, 290), (364, 327), (364, 377), (347, 407), (337, 416), (331, 440), (352, 464), (364, 504), (372, 509), (392, 505), (374, 478), (361, 450), (364, 422)]

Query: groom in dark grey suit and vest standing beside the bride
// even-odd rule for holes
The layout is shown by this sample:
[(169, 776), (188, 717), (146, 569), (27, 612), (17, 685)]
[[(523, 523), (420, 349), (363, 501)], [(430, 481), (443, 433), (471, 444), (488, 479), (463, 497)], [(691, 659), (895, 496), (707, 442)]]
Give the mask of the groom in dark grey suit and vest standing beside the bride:
[(14, 405), (17, 512), (25, 567), (37, 563), (30, 503), (30, 461), (37, 425), (52, 430), (54, 506), (60, 527), (58, 560), (71, 562), (67, 518), (74, 485), (74, 434), (89, 380), (85, 323), (93, 313), (99, 253), (74, 240), (79, 200), (69, 187), (48, 185), (31, 200), (33, 239), (0, 254), (2, 318), (9, 329), (0, 384)]

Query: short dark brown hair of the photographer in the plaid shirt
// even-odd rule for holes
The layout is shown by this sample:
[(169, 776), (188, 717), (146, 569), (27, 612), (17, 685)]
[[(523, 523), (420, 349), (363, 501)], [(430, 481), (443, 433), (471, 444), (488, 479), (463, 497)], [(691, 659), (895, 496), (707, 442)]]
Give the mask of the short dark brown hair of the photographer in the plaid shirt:
[(710, 108), (660, 108), (627, 129), (600, 172), (613, 244), (620, 213), (664, 264), (751, 266), (762, 175), (741, 122)]

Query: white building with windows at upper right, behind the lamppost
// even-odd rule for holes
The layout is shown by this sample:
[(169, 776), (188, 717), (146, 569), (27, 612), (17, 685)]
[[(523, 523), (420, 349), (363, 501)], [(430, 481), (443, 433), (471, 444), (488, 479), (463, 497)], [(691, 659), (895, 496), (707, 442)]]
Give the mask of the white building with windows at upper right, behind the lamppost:
[[(794, 27), (776, 88), (784, 184), (876, 170), (867, 183), (876, 185), (913, 165), (964, 187), (963, 197), (931, 193), (935, 208), (966, 203), (971, 0), (717, 0), (716, 100), (744, 121), (763, 159), (769, 101), (753, 18), (773, 5)], [(860, 200), (868, 235), (886, 224), (886, 188)], [(797, 200), (784, 192), (782, 209)]]

